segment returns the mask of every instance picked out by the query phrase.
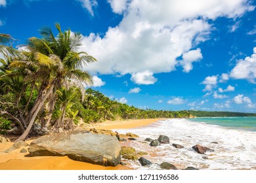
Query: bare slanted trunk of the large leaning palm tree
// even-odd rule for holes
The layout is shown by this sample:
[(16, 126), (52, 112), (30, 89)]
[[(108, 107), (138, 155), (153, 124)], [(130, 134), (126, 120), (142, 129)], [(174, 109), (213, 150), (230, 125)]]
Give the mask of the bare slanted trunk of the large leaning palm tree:
[[(30, 117), (29, 117), (29, 121), (28, 121), (28, 127), (27, 129), (24, 131), (24, 133), (15, 141), (24, 141), (24, 139), (26, 139), (26, 137), (28, 136), (28, 133), (30, 133), (30, 129), (32, 128), (33, 122), (35, 122), (35, 118), (37, 117), (38, 112), (41, 110), (41, 108), (43, 107), (46, 99), (49, 97), (50, 93), (53, 92), (53, 88), (54, 88), (54, 84), (51, 86), (51, 88), (49, 88), (48, 90), (45, 89), (42, 91), (41, 96), (37, 98), (37, 101), (35, 101), (35, 105), (34, 105), (34, 110), (33, 113), (30, 113)], [(36, 106), (36, 108), (35, 108)]]

